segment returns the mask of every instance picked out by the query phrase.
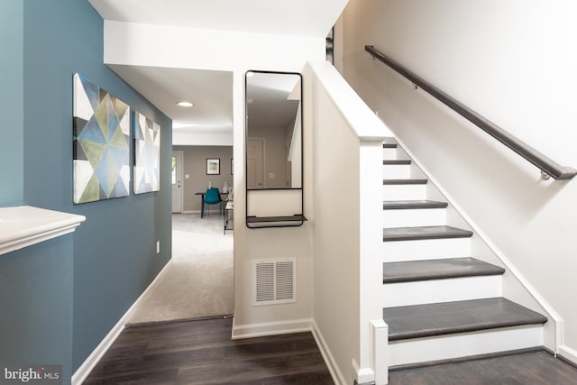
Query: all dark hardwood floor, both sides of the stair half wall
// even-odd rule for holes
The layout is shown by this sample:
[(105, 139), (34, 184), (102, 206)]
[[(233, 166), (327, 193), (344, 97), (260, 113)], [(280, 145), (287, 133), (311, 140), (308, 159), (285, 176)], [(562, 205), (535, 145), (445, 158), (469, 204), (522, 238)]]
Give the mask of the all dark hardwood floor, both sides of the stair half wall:
[[(334, 384), (310, 333), (232, 341), (232, 318), (127, 327), (84, 384)], [(389, 385), (577, 385), (545, 351), (389, 372)]]

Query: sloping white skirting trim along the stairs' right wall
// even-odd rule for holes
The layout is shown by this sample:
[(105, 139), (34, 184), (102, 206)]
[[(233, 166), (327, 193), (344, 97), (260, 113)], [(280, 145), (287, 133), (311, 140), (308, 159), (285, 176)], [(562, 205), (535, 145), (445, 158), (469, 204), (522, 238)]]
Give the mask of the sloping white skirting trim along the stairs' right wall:
[(533, 287), (533, 285), (531, 285), (529, 283), (529, 281), (523, 276), (523, 274), (521, 274), (521, 272), (519, 270), (517, 270), (515, 265), (513, 265), (513, 263), (508, 260), (508, 258), (505, 256), (505, 253), (501, 252), (499, 250), (499, 248), (497, 247), (497, 245), (495, 245), (495, 243), (492, 243), (490, 241), (490, 237), (481, 230), (481, 227), (479, 225), (477, 225), (469, 215), (467, 215), (465, 213), (465, 211), (463, 210), (463, 207), (459, 206), (456, 203), (453, 196), (451, 196), (444, 189), (443, 185), (441, 183), (439, 183), (439, 181), (433, 177), (432, 173), (429, 172), (429, 170), (427, 170), (426, 167), (423, 166), (423, 164), (417, 159), (415, 154), (408, 150), (405, 143), (402, 142), (401, 140), (399, 140), (397, 136), (395, 136), (395, 140), (401, 146), (403, 151), (407, 152), (408, 157), (410, 157), (415, 162), (417, 167), (419, 169), (421, 169), (426, 174), (426, 178), (428, 178), (435, 185), (435, 188), (438, 188), (439, 192), (444, 195), (444, 197), (451, 204), (451, 206), (453, 206), (455, 211), (459, 215), (461, 215), (461, 217), (463, 217), (463, 220), (466, 221), (467, 224), (472, 228), (472, 231), (476, 235), (479, 236), (481, 241), (483, 243), (485, 243), (487, 245), (487, 247), (489, 247), (492, 252), (495, 253), (495, 255), (499, 258), (499, 260), (505, 265), (505, 268), (511, 274), (513, 274), (513, 276), (518, 280), (518, 282), (521, 284), (521, 286), (523, 286), (527, 290), (527, 292), (531, 295), (531, 297), (535, 298), (536, 302), (541, 307), (543, 307), (543, 309), (547, 313), (547, 316), (550, 319), (553, 319), (553, 322), (554, 322), (554, 343), (555, 343), (554, 352), (558, 353), (558, 350), (559, 350), (561, 344), (563, 344), (563, 318), (561, 316), (559, 316), (559, 314), (557, 314), (557, 312), (554, 310), (553, 307), (551, 307), (549, 305), (549, 303), (545, 300), (545, 298), (543, 298), (541, 296), (541, 294), (539, 294), (539, 292)]

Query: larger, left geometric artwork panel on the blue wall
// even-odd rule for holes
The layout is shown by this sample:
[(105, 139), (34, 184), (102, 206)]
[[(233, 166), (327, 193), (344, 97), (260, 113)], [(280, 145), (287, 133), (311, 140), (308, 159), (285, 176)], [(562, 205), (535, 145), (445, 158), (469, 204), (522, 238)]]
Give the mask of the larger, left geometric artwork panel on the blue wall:
[(130, 108), (74, 75), (74, 203), (129, 195)]

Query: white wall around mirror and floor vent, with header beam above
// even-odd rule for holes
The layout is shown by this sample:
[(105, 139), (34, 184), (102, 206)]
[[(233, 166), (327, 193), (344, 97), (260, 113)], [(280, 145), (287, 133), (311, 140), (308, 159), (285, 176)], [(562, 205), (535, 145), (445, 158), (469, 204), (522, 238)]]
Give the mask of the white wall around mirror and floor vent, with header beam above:
[[(310, 328), (313, 306), (311, 224), (257, 230), (249, 230), (244, 224), (244, 72), (248, 69), (301, 72), (307, 60), (324, 57), (324, 36), (311, 38), (105, 22), (107, 64), (234, 73), (234, 336)], [(307, 81), (305, 78), (304, 82)], [(310, 162), (305, 160), (305, 175), (310, 174), (310, 168)], [(310, 201), (312, 188), (310, 183), (305, 183), (305, 194)], [(298, 302), (252, 307), (252, 261), (293, 257), (297, 258), (298, 266)]]

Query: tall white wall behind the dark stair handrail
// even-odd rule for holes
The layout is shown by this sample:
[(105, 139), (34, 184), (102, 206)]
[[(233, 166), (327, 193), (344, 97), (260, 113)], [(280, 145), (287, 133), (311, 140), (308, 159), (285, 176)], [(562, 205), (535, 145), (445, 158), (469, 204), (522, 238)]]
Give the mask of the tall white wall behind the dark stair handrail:
[[(352, 0), (343, 74), (501, 252), (563, 317), (577, 361), (577, 180), (539, 171), (415, 91), (365, 44), (426, 78), (564, 166), (577, 167), (577, 4)], [(339, 51), (339, 47), (336, 47)]]

